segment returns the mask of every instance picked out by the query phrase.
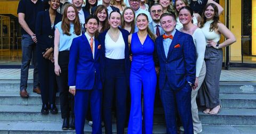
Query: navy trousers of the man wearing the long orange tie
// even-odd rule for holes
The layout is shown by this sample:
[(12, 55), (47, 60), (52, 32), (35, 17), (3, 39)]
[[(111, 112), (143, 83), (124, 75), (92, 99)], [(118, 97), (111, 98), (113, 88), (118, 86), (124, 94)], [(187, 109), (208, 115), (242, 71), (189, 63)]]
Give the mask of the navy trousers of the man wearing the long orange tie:
[(84, 133), (84, 124), (86, 114), (90, 108), (92, 114), (92, 133), (102, 133), (101, 130), (101, 97), (102, 90), (92, 89), (92, 90), (79, 90), (76, 89), (75, 95), (75, 128), (77, 134)]

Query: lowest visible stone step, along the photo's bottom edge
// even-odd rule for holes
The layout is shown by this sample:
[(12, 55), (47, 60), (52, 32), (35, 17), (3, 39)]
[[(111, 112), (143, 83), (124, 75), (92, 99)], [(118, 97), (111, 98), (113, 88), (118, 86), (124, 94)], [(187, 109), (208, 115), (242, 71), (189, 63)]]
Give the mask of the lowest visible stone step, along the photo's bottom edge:
[[(75, 133), (75, 130), (61, 130), (62, 122), (5, 122), (0, 121), (0, 133), (49, 133), (49, 134), (58, 134), (66, 133), (71, 134)], [(92, 128), (85, 124), (84, 133), (91, 133)], [(105, 129), (102, 128), (102, 132)], [(252, 134), (255, 133), (256, 126), (251, 125), (203, 125), (203, 131), (201, 134)], [(113, 133), (116, 133), (116, 124), (113, 124)], [(125, 128), (125, 133), (127, 133), (127, 128)], [(154, 124), (153, 133), (166, 133), (166, 127), (164, 124)]]

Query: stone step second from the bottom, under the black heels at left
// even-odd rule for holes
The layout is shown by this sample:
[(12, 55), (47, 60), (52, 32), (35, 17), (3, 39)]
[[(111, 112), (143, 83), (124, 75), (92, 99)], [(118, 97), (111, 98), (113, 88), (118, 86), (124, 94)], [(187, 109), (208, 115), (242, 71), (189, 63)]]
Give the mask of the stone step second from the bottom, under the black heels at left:
[[(62, 121), (59, 113), (41, 114), (39, 105), (0, 105), (0, 121)], [(199, 108), (199, 118), (203, 124), (255, 125), (256, 110), (250, 108), (221, 108), (218, 115), (204, 114)], [(113, 118), (113, 122), (115, 122)], [(165, 123), (163, 108), (155, 108), (154, 123)]]

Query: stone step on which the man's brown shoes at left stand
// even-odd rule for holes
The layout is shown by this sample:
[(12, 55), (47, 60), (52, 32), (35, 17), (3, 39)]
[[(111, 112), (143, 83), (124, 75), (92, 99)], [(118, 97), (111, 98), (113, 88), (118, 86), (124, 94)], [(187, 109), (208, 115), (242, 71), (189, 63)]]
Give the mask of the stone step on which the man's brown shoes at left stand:
[[(41, 95), (28, 92), (29, 98), (21, 98), (18, 91), (0, 91), (0, 105), (42, 105)], [(59, 93), (56, 95), (56, 105), (60, 105)], [(155, 105), (162, 105), (156, 96)], [(256, 108), (256, 94), (220, 94), (223, 108)]]

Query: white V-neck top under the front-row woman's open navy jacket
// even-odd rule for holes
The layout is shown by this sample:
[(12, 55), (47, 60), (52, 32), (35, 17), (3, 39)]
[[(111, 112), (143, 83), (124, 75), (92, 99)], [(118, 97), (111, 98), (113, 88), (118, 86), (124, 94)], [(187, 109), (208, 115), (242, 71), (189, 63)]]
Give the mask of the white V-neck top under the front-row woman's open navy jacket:
[(113, 41), (107, 33), (105, 38), (105, 47), (105, 57), (115, 60), (124, 59), (125, 43), (122, 32), (120, 32), (116, 42)]

